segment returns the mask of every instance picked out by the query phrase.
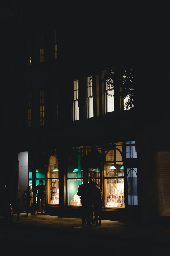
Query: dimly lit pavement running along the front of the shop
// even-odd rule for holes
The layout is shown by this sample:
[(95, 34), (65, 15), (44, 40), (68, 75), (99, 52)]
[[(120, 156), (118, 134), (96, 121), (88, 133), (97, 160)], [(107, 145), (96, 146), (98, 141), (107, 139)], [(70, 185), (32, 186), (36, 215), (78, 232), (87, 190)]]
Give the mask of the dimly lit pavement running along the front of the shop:
[[(20, 213), (18, 216), (14, 214), (13, 227), (31, 228), (31, 229), (54, 229), (55, 231), (66, 231), (67, 233), (75, 234), (82, 232), (88, 237), (105, 237), (105, 238), (121, 238), (124, 240), (138, 240), (146, 242), (156, 242), (170, 244), (170, 223), (167, 224), (133, 224), (119, 221), (102, 220), (102, 226), (85, 226), (82, 227), (80, 218), (59, 218), (57, 216), (45, 215), (37, 213), (37, 215), (29, 214), (25, 217), (25, 213)], [(167, 244), (168, 243), (168, 244)]]

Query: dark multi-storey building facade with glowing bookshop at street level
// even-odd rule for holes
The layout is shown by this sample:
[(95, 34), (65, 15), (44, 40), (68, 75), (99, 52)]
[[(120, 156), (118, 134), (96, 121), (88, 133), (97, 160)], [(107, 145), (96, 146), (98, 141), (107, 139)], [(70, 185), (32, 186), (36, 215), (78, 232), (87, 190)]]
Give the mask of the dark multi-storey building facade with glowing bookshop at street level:
[[(88, 26), (81, 23), (80, 30), (77, 21), (67, 29), (36, 25), (23, 37), (23, 79), (15, 94), (8, 185), (14, 211), (23, 212), (21, 195), (28, 185), (36, 202), (42, 179), (46, 214), (81, 217), (78, 186), (92, 174), (105, 198), (103, 219), (169, 218), (170, 112), (164, 70), (160, 66), (153, 77), (153, 61), (136, 61), (130, 43), (105, 41), (101, 26), (88, 34)], [(105, 79), (110, 66), (114, 86)], [(129, 95), (120, 97), (129, 74), (135, 84), (132, 109), (124, 108)]]

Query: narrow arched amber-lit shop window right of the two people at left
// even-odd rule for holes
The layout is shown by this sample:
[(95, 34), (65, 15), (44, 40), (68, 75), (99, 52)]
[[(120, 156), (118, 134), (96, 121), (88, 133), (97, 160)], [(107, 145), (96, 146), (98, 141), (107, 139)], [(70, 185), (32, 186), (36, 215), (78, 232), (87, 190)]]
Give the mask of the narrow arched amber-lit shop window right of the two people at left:
[(47, 203), (59, 204), (59, 169), (57, 155), (50, 156), (47, 171)]

